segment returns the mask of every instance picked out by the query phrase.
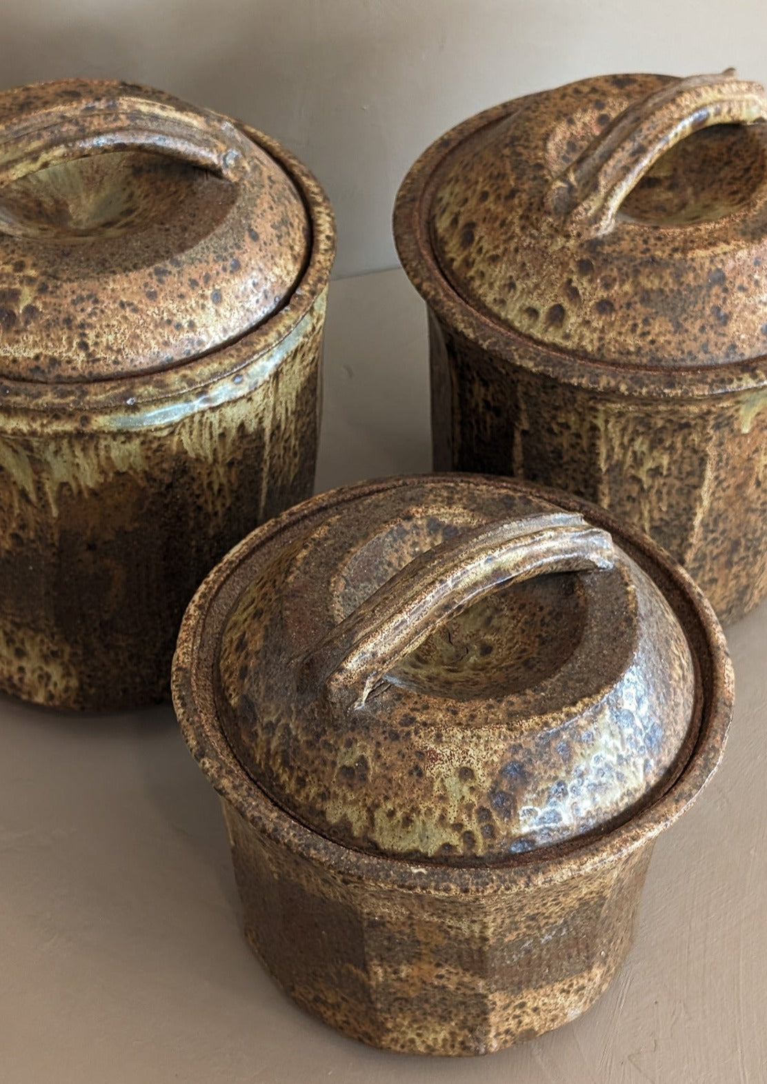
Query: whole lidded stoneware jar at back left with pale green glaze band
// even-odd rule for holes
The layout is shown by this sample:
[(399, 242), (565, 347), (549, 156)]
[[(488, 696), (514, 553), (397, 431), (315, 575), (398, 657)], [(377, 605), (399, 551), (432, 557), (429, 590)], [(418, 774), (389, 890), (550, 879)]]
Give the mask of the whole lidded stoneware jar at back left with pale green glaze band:
[(126, 83), (0, 93), (0, 689), (167, 692), (205, 573), (311, 492), (333, 253), (260, 132)]

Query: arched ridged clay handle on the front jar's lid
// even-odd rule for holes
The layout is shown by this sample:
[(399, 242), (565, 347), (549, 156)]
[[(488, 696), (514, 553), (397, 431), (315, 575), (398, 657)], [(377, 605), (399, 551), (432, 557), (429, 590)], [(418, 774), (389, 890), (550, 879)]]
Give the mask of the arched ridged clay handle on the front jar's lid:
[(320, 641), (303, 662), (304, 687), (324, 688), (342, 712), (360, 707), (404, 656), (488, 592), (613, 562), (610, 534), (568, 513), (463, 531), (411, 560)]

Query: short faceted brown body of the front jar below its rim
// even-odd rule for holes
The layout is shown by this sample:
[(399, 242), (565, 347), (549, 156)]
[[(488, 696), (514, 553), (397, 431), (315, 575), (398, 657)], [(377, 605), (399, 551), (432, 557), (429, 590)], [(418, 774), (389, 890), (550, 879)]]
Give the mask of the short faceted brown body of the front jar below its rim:
[[(489, 1054), (574, 1020), (631, 946), (653, 839), (588, 874), (408, 890), (322, 868), (226, 799), (245, 935), (285, 992), (353, 1038)], [(490, 874), (493, 877), (493, 874)], [(431, 878), (430, 878), (431, 880)]]

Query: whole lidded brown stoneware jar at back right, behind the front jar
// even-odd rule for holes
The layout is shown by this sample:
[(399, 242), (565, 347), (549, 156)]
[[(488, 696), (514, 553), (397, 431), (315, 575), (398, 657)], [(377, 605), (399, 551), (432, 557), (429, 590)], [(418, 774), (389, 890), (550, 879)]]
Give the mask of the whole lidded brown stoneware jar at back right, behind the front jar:
[(767, 591), (767, 100), (731, 72), (583, 80), (412, 167), (437, 468), (561, 487), (733, 620)]

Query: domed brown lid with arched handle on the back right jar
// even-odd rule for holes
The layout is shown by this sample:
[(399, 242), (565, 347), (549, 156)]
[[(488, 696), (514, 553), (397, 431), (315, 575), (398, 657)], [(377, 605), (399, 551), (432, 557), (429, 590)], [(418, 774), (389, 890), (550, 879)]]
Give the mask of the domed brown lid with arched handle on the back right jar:
[(465, 302), (597, 362), (700, 369), (767, 353), (758, 83), (731, 70), (604, 76), (490, 112), (424, 156), (430, 243)]

